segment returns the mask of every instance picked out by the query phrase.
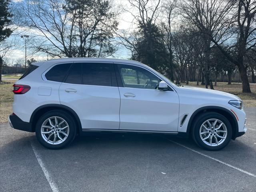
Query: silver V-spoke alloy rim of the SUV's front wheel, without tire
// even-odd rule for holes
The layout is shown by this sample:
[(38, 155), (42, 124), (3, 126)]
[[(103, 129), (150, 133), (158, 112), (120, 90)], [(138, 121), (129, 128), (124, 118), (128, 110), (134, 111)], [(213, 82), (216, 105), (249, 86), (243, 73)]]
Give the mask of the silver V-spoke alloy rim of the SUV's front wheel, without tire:
[(226, 125), (219, 119), (208, 119), (200, 127), (200, 138), (208, 146), (219, 146), (227, 138)]

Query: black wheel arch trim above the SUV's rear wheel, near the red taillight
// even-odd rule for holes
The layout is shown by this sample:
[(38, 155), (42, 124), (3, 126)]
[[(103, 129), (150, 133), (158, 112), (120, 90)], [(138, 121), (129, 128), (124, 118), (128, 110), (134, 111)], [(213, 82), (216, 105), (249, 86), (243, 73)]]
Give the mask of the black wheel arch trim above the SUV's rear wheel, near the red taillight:
[(78, 133), (80, 133), (80, 131), (82, 130), (82, 124), (78, 115), (74, 110), (72, 110), (72, 108), (62, 104), (45, 104), (36, 108), (30, 117), (30, 123), (32, 124), (32, 131), (35, 132), (36, 122), (38, 121), (39, 117), (42, 114), (51, 110), (58, 110), (58, 109), (64, 110), (74, 117), (74, 119), (76, 120), (77, 129), (78, 129), (77, 131)]

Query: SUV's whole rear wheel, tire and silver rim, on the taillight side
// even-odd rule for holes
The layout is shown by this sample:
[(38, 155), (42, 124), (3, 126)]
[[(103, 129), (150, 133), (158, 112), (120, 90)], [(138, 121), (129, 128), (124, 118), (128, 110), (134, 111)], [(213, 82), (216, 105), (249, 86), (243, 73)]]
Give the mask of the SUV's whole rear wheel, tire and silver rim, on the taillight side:
[(36, 137), (46, 148), (63, 148), (70, 144), (75, 136), (74, 118), (62, 110), (47, 112), (39, 118), (36, 124)]

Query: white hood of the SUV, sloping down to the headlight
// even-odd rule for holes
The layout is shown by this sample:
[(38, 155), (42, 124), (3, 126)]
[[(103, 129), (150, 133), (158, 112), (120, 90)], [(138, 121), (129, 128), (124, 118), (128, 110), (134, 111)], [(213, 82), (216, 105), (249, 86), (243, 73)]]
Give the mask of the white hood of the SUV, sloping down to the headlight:
[(196, 93), (196, 94), (210, 94), (211, 96), (222, 96), (226, 97), (227, 99), (230, 100), (240, 100), (242, 101), (238, 96), (235, 96), (230, 93), (222, 92), (222, 91), (217, 91), (217, 90), (212, 90), (212, 89), (206, 89), (206, 88), (198, 88), (198, 87), (192, 87), (192, 86), (184, 86), (180, 87), (180, 89), (186, 90), (188, 92), (191, 91)]

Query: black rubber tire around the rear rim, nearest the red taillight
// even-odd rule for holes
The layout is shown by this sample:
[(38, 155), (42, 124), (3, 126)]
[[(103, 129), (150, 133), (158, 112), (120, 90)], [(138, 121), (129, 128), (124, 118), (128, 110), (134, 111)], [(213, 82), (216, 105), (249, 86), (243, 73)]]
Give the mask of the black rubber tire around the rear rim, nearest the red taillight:
[[(68, 136), (67, 136), (66, 140), (64, 140), (60, 144), (50, 144), (50, 143), (46, 142), (44, 140), (43, 136), (41, 135), (42, 124), (44, 123), (45, 120), (47, 120), (48, 118), (53, 117), (53, 116), (57, 116), (57, 117), (64, 119), (68, 123), (68, 126), (69, 126)], [(36, 138), (38, 139), (40, 144), (42, 144), (46, 148), (49, 148), (49, 149), (64, 148), (74, 140), (75, 136), (76, 136), (76, 123), (75, 123), (74, 118), (68, 112), (65, 112), (62, 110), (52, 110), (52, 111), (46, 112), (38, 119), (38, 122), (36, 123)]]

